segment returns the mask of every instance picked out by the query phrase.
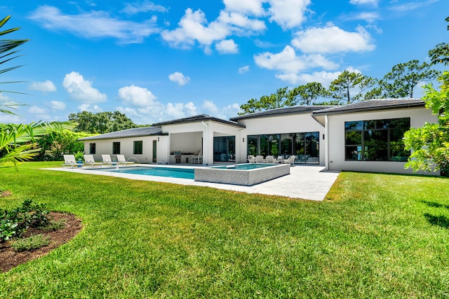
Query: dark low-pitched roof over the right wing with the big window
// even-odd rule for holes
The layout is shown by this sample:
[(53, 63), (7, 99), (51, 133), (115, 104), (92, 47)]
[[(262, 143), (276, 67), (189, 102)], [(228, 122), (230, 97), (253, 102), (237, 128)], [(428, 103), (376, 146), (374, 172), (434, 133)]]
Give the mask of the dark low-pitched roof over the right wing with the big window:
[(347, 104), (342, 106), (333, 106), (327, 109), (314, 111), (314, 116), (323, 116), (326, 114), (344, 114), (362, 111), (377, 111), (387, 109), (403, 109), (424, 107), (425, 102), (422, 99), (368, 99), (366, 101)]

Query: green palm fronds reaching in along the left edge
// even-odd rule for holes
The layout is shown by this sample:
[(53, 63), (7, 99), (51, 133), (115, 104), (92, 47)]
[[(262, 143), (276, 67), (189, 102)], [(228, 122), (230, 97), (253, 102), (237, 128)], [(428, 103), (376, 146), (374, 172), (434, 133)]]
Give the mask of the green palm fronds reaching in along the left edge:
[[(6, 22), (11, 18), (8, 15), (6, 18), (0, 21), (0, 28), (3, 27)], [(15, 32), (20, 27), (13, 29), (6, 29), (0, 32), (0, 36)], [(19, 50), (16, 50), (18, 46), (29, 41), (28, 39), (0, 39), (0, 64), (10, 62), (11, 60), (20, 57), (17, 55)], [(4, 74), (7, 71), (12, 71), (21, 66), (7, 67), (6, 69), (0, 69), (0, 74)], [(5, 83), (17, 83), (15, 82), (0, 82), (0, 84)], [(4, 91), (1, 92), (12, 92)], [(20, 93), (20, 92), (14, 92)], [(4, 99), (0, 99), (0, 113), (6, 113), (10, 115), (15, 115), (11, 109), (15, 109), (15, 106), (20, 104), (7, 102)], [(31, 160), (35, 155), (39, 154), (40, 149), (36, 148), (36, 139), (42, 137), (46, 134), (51, 134), (55, 130), (61, 130), (67, 127), (67, 123), (44, 123), (37, 122), (31, 123), (29, 125), (15, 125), (15, 124), (0, 124), (0, 167), (11, 167), (15, 166), (17, 168), (18, 162), (24, 162)]]

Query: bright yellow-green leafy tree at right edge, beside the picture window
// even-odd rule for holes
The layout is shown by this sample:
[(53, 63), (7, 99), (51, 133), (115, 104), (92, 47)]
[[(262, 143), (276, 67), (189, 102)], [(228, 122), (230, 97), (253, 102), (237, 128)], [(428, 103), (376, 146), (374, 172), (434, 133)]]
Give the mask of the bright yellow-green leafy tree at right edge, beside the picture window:
[(437, 91), (430, 83), (426, 85), (425, 95), (427, 109), (438, 116), (438, 123), (425, 123), (423, 127), (410, 128), (404, 134), (406, 150), (412, 151), (406, 168), (430, 172), (441, 170), (449, 175), (449, 72), (444, 71), (438, 78), (441, 90)]

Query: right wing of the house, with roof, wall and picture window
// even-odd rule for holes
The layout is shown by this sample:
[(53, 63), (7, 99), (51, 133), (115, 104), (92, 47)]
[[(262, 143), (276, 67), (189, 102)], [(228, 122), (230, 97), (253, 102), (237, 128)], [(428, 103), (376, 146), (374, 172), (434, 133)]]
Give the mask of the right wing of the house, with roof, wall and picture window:
[(401, 174), (413, 173), (404, 169), (403, 133), (437, 121), (421, 99), (373, 99), (313, 116), (326, 128), (326, 169)]

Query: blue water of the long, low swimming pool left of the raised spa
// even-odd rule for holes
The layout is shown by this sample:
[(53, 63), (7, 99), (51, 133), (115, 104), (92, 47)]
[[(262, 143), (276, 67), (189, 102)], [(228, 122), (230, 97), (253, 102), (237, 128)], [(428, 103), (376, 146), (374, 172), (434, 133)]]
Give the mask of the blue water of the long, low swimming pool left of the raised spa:
[(172, 167), (126, 167), (98, 169), (102, 172), (119, 172), (122, 174), (141, 174), (145, 176), (167, 176), (178, 179), (194, 179), (193, 168), (172, 168)]

